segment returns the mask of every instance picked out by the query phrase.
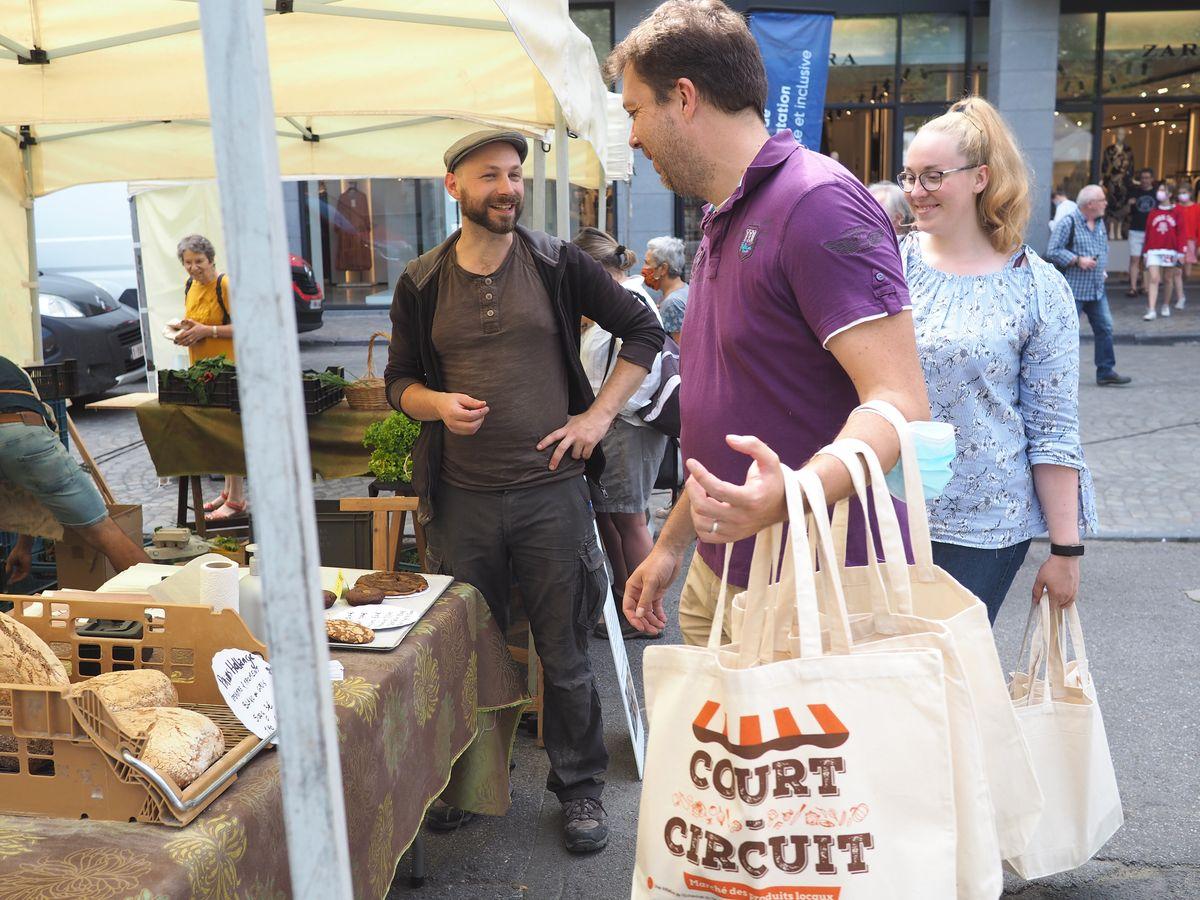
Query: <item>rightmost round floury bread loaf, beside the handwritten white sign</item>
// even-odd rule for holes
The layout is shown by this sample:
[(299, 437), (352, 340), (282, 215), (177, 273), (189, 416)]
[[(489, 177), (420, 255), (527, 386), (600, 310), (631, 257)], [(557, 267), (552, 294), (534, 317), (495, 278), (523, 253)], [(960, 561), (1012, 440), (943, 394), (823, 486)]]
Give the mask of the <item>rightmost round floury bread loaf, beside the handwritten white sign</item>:
[(191, 709), (155, 707), (114, 713), (128, 734), (145, 734), (142, 762), (187, 787), (224, 754), (224, 734), (216, 722)]

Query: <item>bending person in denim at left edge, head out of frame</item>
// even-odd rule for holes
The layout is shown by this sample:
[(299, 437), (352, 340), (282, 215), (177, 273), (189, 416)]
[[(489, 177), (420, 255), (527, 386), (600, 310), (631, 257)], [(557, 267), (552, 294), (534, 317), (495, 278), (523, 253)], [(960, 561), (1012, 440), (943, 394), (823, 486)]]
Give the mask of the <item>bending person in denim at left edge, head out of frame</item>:
[[(54, 415), (29, 374), (0, 356), (0, 481), (32, 494), (64, 528), (71, 528), (121, 572), (149, 563), (146, 552), (130, 540), (108, 515), (100, 490), (67, 452), (55, 433)], [(32, 565), (34, 539), (23, 534), (5, 560), (8, 582), (24, 581)]]

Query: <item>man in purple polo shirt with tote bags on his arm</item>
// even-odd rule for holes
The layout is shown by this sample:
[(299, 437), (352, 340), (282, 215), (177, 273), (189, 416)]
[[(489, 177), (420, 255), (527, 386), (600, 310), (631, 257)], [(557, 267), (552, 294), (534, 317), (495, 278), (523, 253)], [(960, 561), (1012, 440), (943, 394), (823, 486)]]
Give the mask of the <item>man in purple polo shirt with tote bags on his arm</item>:
[[(679, 599), (684, 641), (697, 644), (716, 606), (720, 545), (738, 541), (730, 582), (745, 584), (744, 539), (786, 515), (781, 463), (810, 467), (830, 502), (845, 497), (846, 469), (812, 455), (854, 437), (890, 468), (895, 432), (854, 408), (886, 400), (917, 420), (929, 402), (892, 223), (838, 162), (767, 133), (767, 77), (745, 20), (720, 0), (668, 0), (608, 71), (623, 78), (630, 145), (670, 190), (712, 204), (680, 349), (691, 478), (624, 600), (635, 626), (660, 631), (662, 595), (698, 535)], [(864, 544), (852, 517), (852, 563), (865, 562)]]

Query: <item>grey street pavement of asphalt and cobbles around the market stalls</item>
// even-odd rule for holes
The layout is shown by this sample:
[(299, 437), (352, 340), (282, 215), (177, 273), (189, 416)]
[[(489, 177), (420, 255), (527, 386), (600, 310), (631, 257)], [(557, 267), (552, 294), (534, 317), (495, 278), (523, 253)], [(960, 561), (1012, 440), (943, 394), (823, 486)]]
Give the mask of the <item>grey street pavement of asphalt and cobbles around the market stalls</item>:
[[(1085, 454), (1097, 492), (1104, 541), (1093, 541), (1082, 565), (1081, 612), (1088, 655), (1105, 713), (1126, 826), (1086, 866), (1033, 883), (1009, 878), (1006, 896), (1022, 900), (1141, 900), (1200, 898), (1200, 701), (1193, 690), (1200, 602), (1200, 294), (1196, 307), (1166, 322), (1141, 323), (1114, 298), (1117, 367), (1124, 388), (1099, 388), (1090, 366), (1088, 329), (1081, 347), (1080, 386)], [(1127, 304), (1122, 307), (1121, 304)], [(359, 374), (365, 346), (384, 313), (331, 313), (319, 331), (301, 336), (306, 367), (344, 365)], [(1146, 328), (1144, 328), (1146, 326)], [(1157, 329), (1157, 331), (1154, 331)], [(1168, 331), (1171, 329), (1171, 331)], [(1159, 343), (1159, 341), (1165, 341)], [(376, 358), (384, 362), (383, 348)], [(128, 385), (127, 390), (143, 390)], [(133, 413), (76, 409), (76, 422), (119, 502), (142, 503), (149, 532), (174, 520), (176, 488), (160, 485)], [(322, 497), (364, 496), (367, 479), (319, 482)], [(206, 491), (217, 490), (212, 481)], [(250, 487), (253, 502), (253, 485)], [(664, 497), (659, 496), (656, 505)], [(1016, 665), (1037, 565), (1034, 544), (997, 622), (1006, 667)], [(678, 588), (668, 608), (678, 605)], [(673, 623), (665, 641), (678, 642)], [(644, 641), (628, 644), (641, 683)], [(640, 784), (607, 644), (594, 641), (593, 660), (606, 710), (612, 755), (605, 793), (612, 838), (602, 853), (570, 857), (559, 834), (559, 810), (545, 791), (547, 762), (532, 738), (515, 748), (514, 806), (450, 835), (427, 834), (430, 877), (420, 892), (401, 864), (391, 898), (580, 898), (629, 895)]]

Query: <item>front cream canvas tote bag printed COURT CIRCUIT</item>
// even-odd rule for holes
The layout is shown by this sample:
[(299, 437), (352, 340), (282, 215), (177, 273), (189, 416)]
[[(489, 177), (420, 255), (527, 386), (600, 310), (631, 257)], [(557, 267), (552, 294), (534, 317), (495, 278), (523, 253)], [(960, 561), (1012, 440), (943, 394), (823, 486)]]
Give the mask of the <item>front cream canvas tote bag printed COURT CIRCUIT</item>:
[[(804, 502), (787, 474), (794, 659), (772, 658), (769, 604), (740, 646), (652, 647), (634, 898), (955, 896), (955, 812), (942, 660), (930, 649), (848, 653), (844, 606), (821, 638)], [(769, 581), (757, 541), (750, 581)], [(756, 544), (757, 548), (757, 544)], [(778, 558), (778, 557), (776, 557)], [(832, 560), (830, 560), (832, 563)], [(727, 575), (727, 568), (726, 572)], [(769, 594), (762, 594), (768, 598)], [(758, 643), (754, 643), (757, 637)]]

